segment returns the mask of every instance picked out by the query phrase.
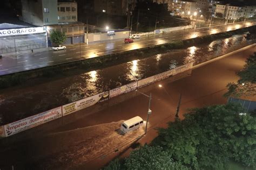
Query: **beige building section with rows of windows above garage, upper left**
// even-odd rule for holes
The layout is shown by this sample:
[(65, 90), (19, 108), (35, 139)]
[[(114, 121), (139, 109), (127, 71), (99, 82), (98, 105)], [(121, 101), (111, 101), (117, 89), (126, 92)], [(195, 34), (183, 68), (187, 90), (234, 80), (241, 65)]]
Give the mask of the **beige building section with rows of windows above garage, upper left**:
[(58, 22), (77, 22), (76, 2), (58, 2)]

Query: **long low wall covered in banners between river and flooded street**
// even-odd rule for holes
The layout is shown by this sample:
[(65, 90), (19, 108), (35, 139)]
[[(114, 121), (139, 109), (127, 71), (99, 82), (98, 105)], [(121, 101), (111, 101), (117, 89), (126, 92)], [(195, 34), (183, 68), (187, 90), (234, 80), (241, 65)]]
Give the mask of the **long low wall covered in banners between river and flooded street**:
[(72, 102), (69, 104), (62, 105), (60, 107), (42, 112), (37, 115), (33, 115), (24, 119), (21, 119), (16, 122), (12, 122), (3, 126), (0, 126), (0, 137), (9, 137), (13, 134), (34, 128), (38, 125), (53, 121), (57, 118), (72, 114), (78, 110), (82, 110), (88, 108), (92, 105), (95, 105), (100, 102), (104, 102), (109, 100), (110, 98), (129, 93), (130, 91), (136, 90), (138, 88), (142, 88), (154, 82), (166, 79), (172, 75), (176, 75), (181, 72), (185, 72), (186, 70), (192, 69), (193, 63), (188, 63), (186, 65), (167, 70), (166, 72), (153, 75), (151, 77), (147, 77), (142, 80), (138, 80), (124, 86), (111, 89), (109, 91), (105, 91), (103, 93), (99, 93), (97, 95), (93, 95), (90, 97), (83, 98), (82, 100), (78, 100), (76, 102)]

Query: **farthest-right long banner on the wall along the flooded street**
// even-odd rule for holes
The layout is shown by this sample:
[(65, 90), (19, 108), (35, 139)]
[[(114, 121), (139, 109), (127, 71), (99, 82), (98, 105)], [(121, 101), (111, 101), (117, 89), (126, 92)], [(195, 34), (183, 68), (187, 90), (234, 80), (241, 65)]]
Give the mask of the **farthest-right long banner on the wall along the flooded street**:
[(167, 77), (173, 75), (174, 73), (175, 73), (175, 70), (171, 69), (171, 70), (168, 70), (166, 72), (163, 72), (163, 73), (160, 73), (160, 74), (157, 74), (157, 75), (153, 75), (151, 77), (147, 77), (146, 79), (139, 80), (138, 81), (138, 88), (144, 87), (148, 84), (154, 83), (154, 82), (159, 81), (159, 80), (166, 79)]

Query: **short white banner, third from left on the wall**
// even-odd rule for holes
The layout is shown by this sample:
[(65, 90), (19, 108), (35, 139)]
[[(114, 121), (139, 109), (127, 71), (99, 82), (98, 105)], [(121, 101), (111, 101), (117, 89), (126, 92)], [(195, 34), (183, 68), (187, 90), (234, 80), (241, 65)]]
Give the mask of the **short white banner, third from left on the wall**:
[(110, 96), (110, 98), (113, 98), (113, 97), (116, 97), (116, 96), (118, 96), (120, 94), (128, 93), (128, 92), (130, 92), (132, 90), (136, 90), (136, 88), (137, 88), (137, 81), (110, 90), (109, 96)]

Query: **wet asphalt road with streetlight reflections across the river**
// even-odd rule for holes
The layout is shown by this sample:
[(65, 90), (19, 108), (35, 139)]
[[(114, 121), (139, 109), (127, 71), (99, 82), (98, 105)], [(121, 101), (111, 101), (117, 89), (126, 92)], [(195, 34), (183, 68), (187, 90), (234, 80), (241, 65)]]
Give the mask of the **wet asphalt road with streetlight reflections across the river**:
[(41, 68), (46, 66), (58, 65), (60, 63), (76, 61), (81, 59), (94, 58), (106, 54), (112, 54), (117, 52), (129, 51), (132, 49), (143, 48), (147, 46), (165, 44), (173, 40), (189, 39), (198, 36), (204, 36), (206, 34), (214, 34), (224, 31), (230, 31), (240, 29), (244, 26), (251, 26), (256, 24), (254, 22), (247, 23), (235, 23), (213, 26), (210, 29), (200, 28), (195, 31), (192, 30), (180, 30), (171, 33), (151, 35), (149, 37), (144, 36), (140, 39), (134, 40), (131, 44), (124, 44), (123, 40), (108, 41), (100, 44), (77, 44), (69, 46), (65, 50), (61, 51), (44, 51), (38, 53), (26, 53), (19, 55), (4, 56), (0, 60), (0, 75), (22, 72), (24, 70), (30, 70), (35, 68)]

